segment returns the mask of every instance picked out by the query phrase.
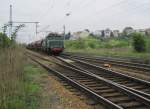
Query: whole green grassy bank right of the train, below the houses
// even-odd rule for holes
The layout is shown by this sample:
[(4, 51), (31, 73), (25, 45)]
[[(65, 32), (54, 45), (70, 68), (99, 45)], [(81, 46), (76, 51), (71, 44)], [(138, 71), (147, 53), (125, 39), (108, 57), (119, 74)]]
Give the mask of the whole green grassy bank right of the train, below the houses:
[(68, 52), (86, 53), (101, 56), (138, 57), (150, 59), (150, 37), (145, 37), (146, 52), (138, 53), (133, 50), (132, 38), (113, 38), (98, 40), (94, 38), (66, 41), (65, 48)]

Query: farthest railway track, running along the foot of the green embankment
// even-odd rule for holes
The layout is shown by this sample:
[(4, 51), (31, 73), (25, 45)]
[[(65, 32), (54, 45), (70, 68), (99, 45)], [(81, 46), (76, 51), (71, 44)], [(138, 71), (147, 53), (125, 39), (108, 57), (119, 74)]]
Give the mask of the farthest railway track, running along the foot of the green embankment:
[(141, 71), (150, 72), (150, 65), (143, 64), (143, 63), (135, 63), (130, 62), (129, 60), (125, 59), (114, 59), (114, 58), (104, 58), (104, 57), (89, 57), (89, 56), (81, 56), (81, 55), (74, 55), (74, 54), (63, 54), (64, 56), (74, 57), (76, 59), (84, 60), (84, 61), (91, 61), (97, 64), (110, 64), (113, 66), (125, 67), (129, 69), (136, 69)]

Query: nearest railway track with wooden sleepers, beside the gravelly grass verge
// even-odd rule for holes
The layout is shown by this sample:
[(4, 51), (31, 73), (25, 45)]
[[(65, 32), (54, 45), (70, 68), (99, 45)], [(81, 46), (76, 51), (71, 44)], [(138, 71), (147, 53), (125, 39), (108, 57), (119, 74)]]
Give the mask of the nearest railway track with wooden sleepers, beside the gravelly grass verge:
[(29, 57), (108, 109), (149, 109), (150, 107), (150, 100), (146, 97), (98, 75), (71, 67), (66, 63), (55, 62), (56, 66), (50, 68), (49, 64), (42, 62), (49, 59), (41, 56), (35, 58), (35, 55)]

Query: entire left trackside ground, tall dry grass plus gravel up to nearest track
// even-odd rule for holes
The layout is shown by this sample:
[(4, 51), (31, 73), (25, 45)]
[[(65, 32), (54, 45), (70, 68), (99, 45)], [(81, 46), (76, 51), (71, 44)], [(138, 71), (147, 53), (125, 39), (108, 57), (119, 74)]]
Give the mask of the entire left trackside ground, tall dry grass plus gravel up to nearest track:
[(90, 108), (25, 57), (24, 51), (20, 47), (0, 49), (0, 109)]

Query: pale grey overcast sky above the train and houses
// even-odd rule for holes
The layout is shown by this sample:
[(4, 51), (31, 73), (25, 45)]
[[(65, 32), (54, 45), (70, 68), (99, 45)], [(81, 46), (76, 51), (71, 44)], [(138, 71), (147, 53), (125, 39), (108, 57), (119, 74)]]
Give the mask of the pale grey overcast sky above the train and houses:
[[(13, 21), (38, 21), (39, 31), (91, 31), (150, 27), (150, 0), (0, 0), (0, 25), (9, 20), (9, 5), (13, 5)], [(70, 13), (69, 16), (66, 16)], [(18, 36), (21, 42), (35, 37), (35, 25), (26, 24)]]

